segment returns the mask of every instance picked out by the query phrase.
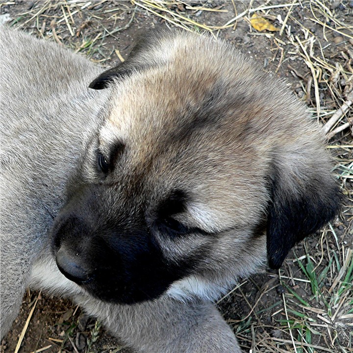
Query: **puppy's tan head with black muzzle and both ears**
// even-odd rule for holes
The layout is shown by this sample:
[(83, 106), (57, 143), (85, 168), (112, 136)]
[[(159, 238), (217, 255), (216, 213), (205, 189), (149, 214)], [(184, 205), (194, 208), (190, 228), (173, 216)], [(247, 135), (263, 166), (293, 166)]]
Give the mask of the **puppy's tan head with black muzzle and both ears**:
[(155, 32), (97, 77), (110, 99), (53, 228), (59, 269), (98, 298), (215, 298), (338, 210), (316, 126), (224, 42)]

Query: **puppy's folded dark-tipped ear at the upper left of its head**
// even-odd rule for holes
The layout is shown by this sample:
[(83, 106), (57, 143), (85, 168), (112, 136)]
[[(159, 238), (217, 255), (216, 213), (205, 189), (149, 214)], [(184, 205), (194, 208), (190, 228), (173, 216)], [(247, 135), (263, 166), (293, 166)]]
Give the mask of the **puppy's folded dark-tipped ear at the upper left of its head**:
[[(153, 49), (160, 45), (163, 38), (171, 36), (171, 33), (172, 31), (167, 28), (157, 27), (141, 34), (126, 60), (118, 66), (101, 73), (88, 87), (96, 90), (104, 89), (117, 79), (124, 79), (133, 72), (143, 71), (151, 66), (161, 64), (158, 61), (160, 58), (154, 55)], [(168, 50), (168, 48), (165, 50)]]

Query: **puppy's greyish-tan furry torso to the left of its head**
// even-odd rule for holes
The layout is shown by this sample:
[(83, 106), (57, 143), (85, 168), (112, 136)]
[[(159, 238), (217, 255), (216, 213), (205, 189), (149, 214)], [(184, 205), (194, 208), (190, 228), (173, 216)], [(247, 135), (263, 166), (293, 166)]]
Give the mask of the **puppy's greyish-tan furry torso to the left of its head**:
[(49, 230), (64, 202), (64, 180), (74, 173), (104, 94), (84, 82), (99, 69), (56, 45), (2, 27), (0, 51), (2, 336), (33, 263), (42, 252), (50, 257)]

